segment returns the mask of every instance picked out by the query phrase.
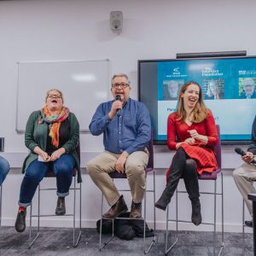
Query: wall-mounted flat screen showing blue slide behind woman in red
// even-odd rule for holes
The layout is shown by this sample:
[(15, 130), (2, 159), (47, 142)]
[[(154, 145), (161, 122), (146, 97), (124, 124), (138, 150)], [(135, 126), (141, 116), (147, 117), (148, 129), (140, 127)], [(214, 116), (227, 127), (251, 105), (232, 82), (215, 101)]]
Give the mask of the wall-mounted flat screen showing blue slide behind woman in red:
[(139, 100), (149, 109), (154, 143), (166, 143), (180, 87), (201, 84), (223, 143), (247, 143), (256, 114), (256, 56), (138, 61)]

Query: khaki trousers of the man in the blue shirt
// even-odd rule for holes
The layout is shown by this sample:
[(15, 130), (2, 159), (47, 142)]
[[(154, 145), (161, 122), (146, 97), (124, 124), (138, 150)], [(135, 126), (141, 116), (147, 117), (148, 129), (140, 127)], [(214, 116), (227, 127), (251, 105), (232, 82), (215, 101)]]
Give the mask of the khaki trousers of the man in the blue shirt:
[[(96, 186), (112, 207), (119, 200), (119, 191), (108, 173), (115, 171), (115, 163), (120, 154), (104, 151), (90, 160), (86, 169)], [(145, 168), (148, 165), (148, 149), (130, 154), (125, 162), (125, 173), (131, 189), (132, 200), (135, 203), (143, 201), (145, 193)]]

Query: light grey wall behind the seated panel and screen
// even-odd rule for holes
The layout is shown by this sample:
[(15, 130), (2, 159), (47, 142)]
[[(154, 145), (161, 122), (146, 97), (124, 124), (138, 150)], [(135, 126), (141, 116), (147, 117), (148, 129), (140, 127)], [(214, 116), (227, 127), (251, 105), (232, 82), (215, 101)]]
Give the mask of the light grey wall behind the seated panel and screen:
[[(183, 52), (240, 49), (246, 49), (247, 55), (256, 55), (255, 9), (256, 2), (253, 0), (1, 1), (0, 136), (5, 137), (3, 156), (13, 167), (3, 188), (3, 224), (15, 222), (22, 179), (19, 167), (27, 152), (24, 135), (15, 132), (17, 61), (108, 58), (110, 73), (128, 73), (132, 84), (131, 97), (137, 98), (139, 59), (175, 58), (176, 53)], [(119, 35), (110, 30), (111, 10), (121, 10), (124, 14), (124, 28)], [(29, 97), (27, 92), (27, 104)], [(44, 96), (38, 101), (42, 101), (43, 105)], [(223, 151), (227, 230), (239, 230), (241, 224), (241, 197), (230, 176), (231, 170), (240, 164), (233, 148), (225, 147)], [(165, 168), (171, 163), (172, 154), (165, 147), (155, 149), (158, 197), (164, 187)], [(87, 160), (102, 151), (102, 137), (82, 134), (81, 150), (84, 167)], [(100, 216), (100, 193), (85, 172), (83, 178), (83, 224), (94, 226), (95, 219)], [(201, 188), (204, 187), (207, 185), (201, 184)], [(126, 197), (129, 201), (130, 195)], [(184, 212), (190, 212), (190, 206), (185, 201), (182, 201)], [(208, 207), (203, 208), (203, 218), (211, 218)], [(50, 204), (50, 211), (54, 212), (54, 208), (55, 201)], [(152, 220), (152, 210), (149, 212), (148, 217)], [(157, 211), (159, 227), (163, 227), (164, 218), (164, 212)], [(66, 225), (61, 218), (58, 221)], [(45, 222), (46, 225), (56, 223), (50, 219)]]

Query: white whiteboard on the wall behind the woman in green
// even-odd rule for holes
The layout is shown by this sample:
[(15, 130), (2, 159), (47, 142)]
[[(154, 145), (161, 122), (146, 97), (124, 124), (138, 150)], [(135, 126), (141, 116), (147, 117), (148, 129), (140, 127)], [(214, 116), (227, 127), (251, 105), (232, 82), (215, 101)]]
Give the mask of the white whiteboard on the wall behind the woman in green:
[(109, 61), (17, 62), (16, 131), (44, 107), (47, 90), (59, 89), (64, 105), (79, 119), (80, 131), (88, 132), (97, 106), (108, 101)]

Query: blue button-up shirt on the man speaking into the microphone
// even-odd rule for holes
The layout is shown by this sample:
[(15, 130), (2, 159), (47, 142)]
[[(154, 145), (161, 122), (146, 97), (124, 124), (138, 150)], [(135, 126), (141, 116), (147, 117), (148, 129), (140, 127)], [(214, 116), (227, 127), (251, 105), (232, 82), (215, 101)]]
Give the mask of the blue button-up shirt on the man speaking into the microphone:
[(98, 136), (103, 132), (105, 150), (115, 154), (143, 150), (151, 137), (148, 108), (129, 98), (119, 113), (109, 119), (112, 104), (113, 101), (104, 102), (96, 109), (89, 125), (91, 134)]

